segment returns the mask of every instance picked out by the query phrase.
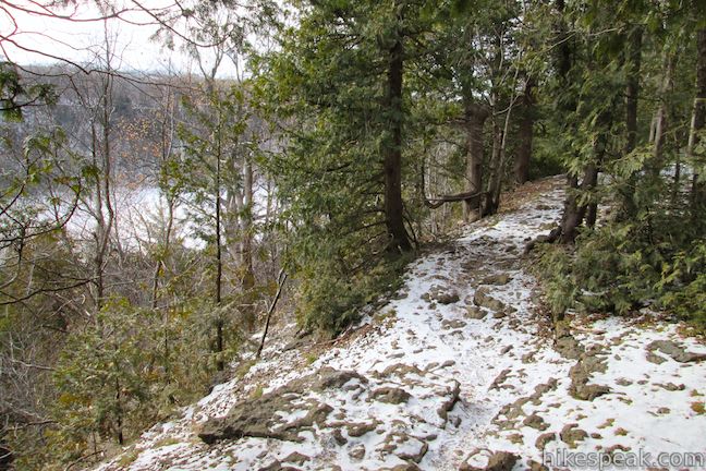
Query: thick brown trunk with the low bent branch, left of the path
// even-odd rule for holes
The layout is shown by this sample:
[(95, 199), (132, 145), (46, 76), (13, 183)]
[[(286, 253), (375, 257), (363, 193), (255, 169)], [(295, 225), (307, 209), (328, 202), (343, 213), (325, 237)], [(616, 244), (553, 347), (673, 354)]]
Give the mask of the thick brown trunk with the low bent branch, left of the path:
[[(465, 134), (466, 134), (466, 193), (478, 193), (483, 189), (483, 126), (490, 113), (480, 106), (466, 101), (465, 105)], [(465, 201), (463, 203), (463, 218), (472, 222), (480, 218), (480, 200)]]

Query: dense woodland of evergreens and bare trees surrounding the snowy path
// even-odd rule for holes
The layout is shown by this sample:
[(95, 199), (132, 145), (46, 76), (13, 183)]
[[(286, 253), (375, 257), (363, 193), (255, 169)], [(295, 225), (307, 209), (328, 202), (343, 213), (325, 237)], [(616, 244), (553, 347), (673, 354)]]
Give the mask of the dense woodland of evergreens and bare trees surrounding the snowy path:
[(703, 2), (162, 13), (198, 74), (121, 72), (108, 27), (90, 63), (0, 62), (0, 469), (104, 459), (254, 361), (276, 307), (340, 334), (547, 174), (567, 201), (531, 256), (557, 323), (706, 326)]

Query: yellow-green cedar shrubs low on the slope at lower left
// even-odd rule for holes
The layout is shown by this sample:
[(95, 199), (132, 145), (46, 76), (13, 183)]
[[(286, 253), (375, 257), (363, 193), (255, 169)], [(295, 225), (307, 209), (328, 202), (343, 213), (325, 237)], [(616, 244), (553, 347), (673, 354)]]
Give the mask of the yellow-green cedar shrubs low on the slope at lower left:
[[(54, 373), (59, 426), (47, 433), (53, 459), (75, 460), (94, 439), (114, 442), (122, 433), (129, 440), (203, 395), (215, 363), (211, 329), (223, 311), (203, 300), (157, 312), (114, 299), (70, 335)], [(230, 359), (239, 345), (232, 322), (226, 331), (230, 349), (219, 354)]]

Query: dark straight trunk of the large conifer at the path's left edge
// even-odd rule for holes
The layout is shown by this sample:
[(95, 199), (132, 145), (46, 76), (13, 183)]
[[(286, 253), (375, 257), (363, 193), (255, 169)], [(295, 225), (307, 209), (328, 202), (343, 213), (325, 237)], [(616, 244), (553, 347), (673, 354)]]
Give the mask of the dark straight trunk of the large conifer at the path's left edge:
[(404, 70), (402, 38), (394, 39), (389, 52), (387, 83), (387, 111), (389, 116), (390, 143), (384, 149), (385, 167), (385, 218), (390, 237), (390, 252), (412, 249), (404, 227), (402, 202), (402, 73)]

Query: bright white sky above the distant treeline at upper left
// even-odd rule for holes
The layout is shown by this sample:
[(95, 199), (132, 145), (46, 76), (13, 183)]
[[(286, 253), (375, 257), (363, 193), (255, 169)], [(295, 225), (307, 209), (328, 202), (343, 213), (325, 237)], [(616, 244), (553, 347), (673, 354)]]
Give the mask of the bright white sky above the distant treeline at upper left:
[[(107, 25), (110, 36), (115, 38), (115, 51), (121, 58), (120, 63), (113, 64), (122, 71), (154, 71), (165, 72), (171, 63), (172, 69), (185, 72), (197, 69), (192, 61), (175, 48), (169, 50), (158, 41), (151, 40), (158, 26), (150, 16), (145, 12), (129, 12), (124, 17), (133, 23), (145, 25), (134, 25), (120, 20), (95, 21), (95, 22), (76, 22), (61, 20), (57, 17), (40, 16), (21, 11), (21, 9), (39, 10), (39, 3), (32, 0), (0, 0), (0, 57), (7, 57), (11, 61), (20, 64), (50, 64), (56, 60), (42, 56), (27, 52), (17, 48), (12, 43), (20, 46), (39, 50), (45, 53), (65, 58), (72, 62), (86, 63), (95, 57), (96, 51), (102, 48), (104, 28)], [(136, 7), (126, 0), (125, 4), (130, 8)], [(172, 4), (170, 0), (145, 0), (141, 4), (147, 8), (166, 8)], [(100, 13), (95, 3), (87, 3), (85, 0), (78, 0), (78, 4), (73, 8), (63, 10), (53, 10), (60, 14), (72, 15), (74, 19), (99, 17)], [(16, 24), (16, 29), (15, 29)], [(228, 61), (219, 73), (220, 76), (232, 76), (234, 68), (228, 67)]]

